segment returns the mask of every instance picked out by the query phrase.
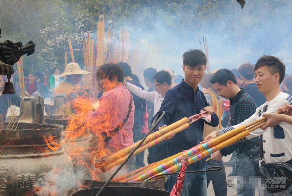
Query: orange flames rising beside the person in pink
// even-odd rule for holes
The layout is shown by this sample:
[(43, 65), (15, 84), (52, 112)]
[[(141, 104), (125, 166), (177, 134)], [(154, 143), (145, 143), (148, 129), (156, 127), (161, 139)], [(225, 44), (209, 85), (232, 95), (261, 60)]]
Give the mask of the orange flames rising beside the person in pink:
[[(106, 91), (112, 90), (120, 83), (110, 82), (105, 79), (104, 89)], [(116, 98), (112, 98), (116, 99)], [(106, 146), (104, 142), (106, 135), (112, 137), (113, 130), (118, 126), (121, 128), (121, 122), (118, 122), (120, 111), (112, 111), (112, 100), (101, 100), (103, 104), (98, 106), (98, 111), (102, 114), (95, 117), (88, 117), (88, 114), (93, 113), (95, 110), (93, 105), (98, 105), (96, 101), (89, 97), (79, 97), (71, 102), (73, 112), (69, 116), (68, 125), (65, 131), (62, 132), (62, 141), (55, 140), (54, 137), (44, 137), (47, 146), (51, 150), (58, 150), (61, 147), (65, 148), (66, 153), (69, 155), (75, 170), (87, 170), (93, 180), (99, 180), (100, 171), (93, 165), (99, 163), (104, 157), (107, 157), (114, 152), (124, 148), (119, 144), (113, 144), (110, 147)], [(122, 103), (121, 103), (122, 104)], [(128, 107), (127, 107), (128, 108)], [(123, 129), (120, 129), (123, 132)], [(91, 141), (91, 134), (93, 135)], [(128, 135), (124, 133), (124, 137)], [(102, 166), (102, 165), (100, 165)], [(78, 171), (75, 171), (78, 172)]]

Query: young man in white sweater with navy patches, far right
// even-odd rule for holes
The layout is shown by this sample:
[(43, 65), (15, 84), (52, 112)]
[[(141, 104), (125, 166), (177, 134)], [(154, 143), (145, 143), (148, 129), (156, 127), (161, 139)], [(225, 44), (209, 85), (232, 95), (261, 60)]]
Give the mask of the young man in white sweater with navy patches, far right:
[[(285, 103), (292, 104), (292, 96), (283, 93), (280, 90), (280, 84), (285, 76), (285, 65), (278, 58), (274, 56), (262, 56), (255, 65), (255, 79), (256, 85), (260, 92), (262, 92), (267, 101), (256, 109), (256, 113), (244, 122), (224, 128), (210, 133), (205, 141), (213, 139), (230, 130), (233, 130), (240, 125), (247, 125), (251, 122), (262, 118), (265, 113), (274, 113), (278, 108)], [(250, 140), (254, 137), (262, 135), (263, 141), (263, 159), (260, 163), (274, 163), (274, 162), (288, 162), (292, 159), (292, 131), (291, 125), (282, 122), (272, 128), (262, 130), (261, 128), (251, 131), (250, 135), (241, 139), (239, 142)], [(219, 151), (213, 155), (214, 159), (222, 158)], [(260, 189), (261, 196), (273, 196), (265, 189)], [(292, 195), (292, 187), (278, 193), (274, 196)]]

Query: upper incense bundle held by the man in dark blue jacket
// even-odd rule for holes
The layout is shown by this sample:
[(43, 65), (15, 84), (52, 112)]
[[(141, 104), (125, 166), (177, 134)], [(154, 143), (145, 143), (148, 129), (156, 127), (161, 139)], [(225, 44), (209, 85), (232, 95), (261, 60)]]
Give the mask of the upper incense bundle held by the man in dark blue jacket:
[[(146, 141), (142, 143), (142, 147), (139, 147), (136, 152), (132, 155), (132, 156), (135, 156), (139, 153), (141, 153), (142, 151), (148, 149), (149, 147), (153, 147), (155, 146), (156, 144), (164, 141), (165, 139), (167, 139), (168, 137), (171, 136), (171, 134), (176, 134), (180, 131), (183, 131), (184, 129), (188, 128), (190, 126), (191, 123), (201, 119), (203, 117), (203, 114), (205, 114), (206, 112), (202, 112), (200, 114), (196, 114), (194, 116), (191, 116), (190, 118), (183, 118), (169, 126), (166, 127), (165, 131), (164, 129), (160, 130), (160, 131), (157, 131), (151, 135), (149, 135), (147, 138), (146, 138)], [(188, 122), (190, 121), (190, 122)], [(174, 127), (182, 124), (183, 122), (186, 122), (184, 123), (183, 125), (177, 127), (174, 129)], [(164, 134), (163, 134), (164, 133)], [(160, 135), (160, 136), (159, 136)], [(159, 137), (157, 137), (159, 136)], [(148, 139), (148, 140), (147, 140)], [(138, 142), (140, 143), (140, 141)], [(136, 143), (135, 143), (136, 144)], [(138, 144), (135, 145), (134, 144), (134, 147), (137, 147)], [(133, 146), (133, 145), (132, 145)], [(125, 151), (125, 149), (128, 149), (128, 152)], [(105, 161), (105, 159), (103, 160), (103, 162), (100, 162), (99, 164), (98, 163), (95, 163), (95, 167), (100, 168), (101, 171), (105, 172), (105, 171), (108, 171), (109, 169), (113, 168), (114, 166), (122, 163), (128, 156), (128, 154), (132, 151), (131, 149), (131, 146), (130, 147), (127, 147), (121, 151), (123, 151), (123, 153), (125, 154), (123, 157), (122, 156), (116, 156), (116, 159), (113, 158), (113, 156), (111, 155), (109, 158), (107, 158), (107, 160)], [(121, 155), (121, 151), (117, 152), (119, 153), (119, 155)], [(117, 154), (115, 153), (115, 154)], [(127, 153), (127, 154), (126, 154)], [(115, 160), (115, 161), (114, 161)]]

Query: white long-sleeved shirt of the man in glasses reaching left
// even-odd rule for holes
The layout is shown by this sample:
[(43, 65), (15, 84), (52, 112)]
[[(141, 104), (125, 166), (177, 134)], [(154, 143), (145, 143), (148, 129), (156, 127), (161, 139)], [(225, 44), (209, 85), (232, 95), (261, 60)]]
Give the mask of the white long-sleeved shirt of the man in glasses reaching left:
[(153, 116), (159, 111), (164, 97), (162, 95), (158, 94), (157, 91), (148, 92), (148, 91), (143, 90), (142, 88), (139, 88), (138, 86), (131, 84), (129, 82), (127, 82), (125, 88), (128, 89), (129, 91), (131, 91), (132, 93), (134, 93), (135, 95), (137, 95), (138, 97), (144, 98), (147, 101), (154, 103)]

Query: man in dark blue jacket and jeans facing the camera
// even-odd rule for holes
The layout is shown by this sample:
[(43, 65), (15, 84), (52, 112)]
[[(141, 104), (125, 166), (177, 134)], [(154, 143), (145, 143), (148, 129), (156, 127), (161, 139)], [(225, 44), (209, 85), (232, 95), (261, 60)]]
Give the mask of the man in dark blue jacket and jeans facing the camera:
[[(201, 110), (211, 115), (210, 126), (217, 126), (219, 119), (206, 101), (204, 93), (199, 90), (198, 84), (204, 76), (207, 58), (201, 50), (190, 50), (183, 54), (183, 71), (185, 78), (180, 84), (168, 90), (157, 114), (165, 111), (165, 115), (158, 127), (170, 125), (183, 117), (199, 114)], [(167, 148), (166, 156), (172, 156), (183, 150), (188, 150), (203, 141), (204, 120), (200, 119), (189, 128), (177, 133), (173, 138), (164, 141)], [(165, 157), (162, 157), (165, 158)], [(204, 170), (206, 161), (202, 159), (188, 166), (187, 170)], [(168, 190), (176, 182), (176, 175), (170, 175)], [(206, 172), (186, 173), (182, 196), (207, 196)]]

